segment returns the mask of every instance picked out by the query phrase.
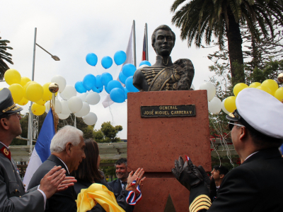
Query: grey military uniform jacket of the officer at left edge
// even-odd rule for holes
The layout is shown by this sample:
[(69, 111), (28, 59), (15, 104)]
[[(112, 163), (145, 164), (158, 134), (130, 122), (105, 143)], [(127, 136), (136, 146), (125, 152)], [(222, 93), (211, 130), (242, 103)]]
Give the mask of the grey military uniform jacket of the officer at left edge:
[[(0, 149), (3, 147), (0, 143)], [(11, 160), (0, 153), (0, 211), (43, 212), (43, 195), (37, 191), (37, 187), (30, 189), (28, 194), (25, 193), (21, 178)]]

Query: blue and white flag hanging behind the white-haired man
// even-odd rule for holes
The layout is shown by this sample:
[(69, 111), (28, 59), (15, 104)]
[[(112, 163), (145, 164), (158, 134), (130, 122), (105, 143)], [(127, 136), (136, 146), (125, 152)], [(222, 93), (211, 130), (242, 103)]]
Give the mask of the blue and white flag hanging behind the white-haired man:
[(30, 157), (30, 162), (28, 163), (27, 170), (25, 172), (25, 177), (23, 178), (23, 183), (25, 188), (28, 188), (31, 177), (40, 165), (42, 165), (45, 160), (50, 156), (50, 143), (55, 134), (54, 119), (52, 109), (48, 112), (45, 120), (40, 129), (40, 134), (35, 143), (35, 148), (33, 148), (33, 153)]

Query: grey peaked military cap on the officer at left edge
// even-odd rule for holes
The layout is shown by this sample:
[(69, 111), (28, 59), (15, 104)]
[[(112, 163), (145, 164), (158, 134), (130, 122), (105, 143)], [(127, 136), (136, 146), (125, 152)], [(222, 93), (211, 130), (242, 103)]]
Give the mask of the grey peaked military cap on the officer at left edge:
[(21, 110), (23, 108), (13, 102), (11, 91), (8, 88), (0, 90), (0, 118), (20, 112)]

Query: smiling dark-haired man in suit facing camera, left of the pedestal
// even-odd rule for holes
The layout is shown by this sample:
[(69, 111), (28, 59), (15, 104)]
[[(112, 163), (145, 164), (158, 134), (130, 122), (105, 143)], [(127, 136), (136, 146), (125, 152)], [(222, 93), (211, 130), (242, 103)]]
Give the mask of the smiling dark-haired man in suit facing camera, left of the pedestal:
[[(117, 179), (112, 182), (108, 182), (108, 185), (113, 189), (113, 193), (117, 199), (121, 192), (127, 187), (127, 177), (129, 173), (127, 172), (127, 158), (120, 158), (115, 163), (115, 172)], [(127, 205), (125, 211), (131, 212), (134, 210), (134, 206)]]

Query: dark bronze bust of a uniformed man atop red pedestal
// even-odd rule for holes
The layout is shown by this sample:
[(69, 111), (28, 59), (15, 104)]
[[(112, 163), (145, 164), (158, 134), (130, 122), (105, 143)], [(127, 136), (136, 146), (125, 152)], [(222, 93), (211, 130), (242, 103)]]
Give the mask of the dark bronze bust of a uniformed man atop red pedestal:
[(195, 69), (190, 59), (172, 63), (170, 54), (175, 45), (175, 33), (168, 25), (160, 25), (151, 36), (156, 63), (137, 69), (133, 84), (141, 91), (190, 90)]

